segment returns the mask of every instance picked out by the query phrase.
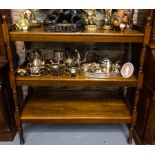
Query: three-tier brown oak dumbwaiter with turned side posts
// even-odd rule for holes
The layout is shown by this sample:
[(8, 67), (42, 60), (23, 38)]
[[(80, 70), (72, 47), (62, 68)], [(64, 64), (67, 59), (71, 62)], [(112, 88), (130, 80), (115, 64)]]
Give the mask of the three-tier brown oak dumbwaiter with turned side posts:
[[(130, 125), (128, 143), (132, 143), (133, 130), (137, 117), (139, 91), (143, 82), (143, 63), (149, 43), (150, 18), (143, 29), (125, 32), (98, 30), (96, 32), (46, 32), (43, 26), (28, 31), (10, 30), (3, 16), (4, 42), (10, 65), (10, 81), (16, 108), (16, 124), (20, 143), (24, 143), (22, 123), (126, 123)], [(65, 75), (53, 77), (19, 76), (15, 73), (11, 42), (104, 42), (104, 43), (141, 43), (138, 73), (125, 79), (121, 76), (109, 79), (87, 78), (79, 75), (71, 78)], [(21, 104), (18, 87), (50, 86), (116, 86), (135, 87), (134, 104), (131, 106), (121, 91), (69, 91), (34, 90)], [(22, 105), (22, 106), (21, 106)]]

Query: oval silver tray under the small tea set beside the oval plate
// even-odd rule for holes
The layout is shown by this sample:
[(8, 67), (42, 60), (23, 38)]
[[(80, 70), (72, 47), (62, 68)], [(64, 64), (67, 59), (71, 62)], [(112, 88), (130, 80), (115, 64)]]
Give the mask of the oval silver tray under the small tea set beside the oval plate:
[(91, 73), (91, 72), (81, 72), (82, 75), (86, 76), (86, 77), (90, 77), (90, 78), (114, 78), (120, 75), (120, 73), (114, 73), (111, 72), (109, 74), (105, 74), (105, 73)]

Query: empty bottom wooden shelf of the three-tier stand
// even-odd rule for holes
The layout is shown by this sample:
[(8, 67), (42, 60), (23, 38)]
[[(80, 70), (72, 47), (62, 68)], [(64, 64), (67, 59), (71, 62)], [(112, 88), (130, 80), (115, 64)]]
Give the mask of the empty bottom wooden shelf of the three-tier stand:
[(27, 98), (22, 122), (130, 123), (130, 110), (120, 94), (109, 91), (35, 92)]

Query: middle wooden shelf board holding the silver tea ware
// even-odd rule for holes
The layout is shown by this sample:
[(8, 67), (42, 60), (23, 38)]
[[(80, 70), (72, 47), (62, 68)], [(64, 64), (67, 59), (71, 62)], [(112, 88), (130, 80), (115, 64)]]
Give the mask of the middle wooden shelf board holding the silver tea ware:
[(20, 86), (130, 86), (135, 87), (137, 79), (134, 75), (130, 78), (123, 78), (122, 76), (114, 78), (88, 78), (83, 75), (70, 77), (63, 74), (61, 76), (52, 76), (51, 74), (43, 76), (20, 76), (17, 75), (16, 83)]

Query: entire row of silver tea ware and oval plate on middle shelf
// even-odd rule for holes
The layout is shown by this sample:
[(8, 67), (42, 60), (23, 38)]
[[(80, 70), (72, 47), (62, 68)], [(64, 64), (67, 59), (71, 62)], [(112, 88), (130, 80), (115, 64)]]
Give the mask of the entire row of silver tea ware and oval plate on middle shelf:
[(71, 77), (82, 74), (92, 78), (111, 78), (122, 75), (129, 78), (133, 74), (134, 67), (127, 62), (121, 66), (120, 61), (113, 63), (110, 59), (99, 59), (97, 62), (87, 61), (88, 53), (81, 53), (78, 49), (54, 50), (53, 57), (50, 60), (43, 58), (41, 51), (35, 48), (26, 52), (26, 67), (17, 69), (17, 73), (24, 76), (41, 76), (51, 73), (53, 76), (59, 76), (67, 73)]

